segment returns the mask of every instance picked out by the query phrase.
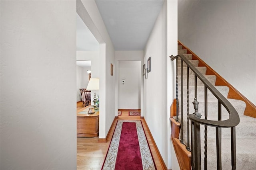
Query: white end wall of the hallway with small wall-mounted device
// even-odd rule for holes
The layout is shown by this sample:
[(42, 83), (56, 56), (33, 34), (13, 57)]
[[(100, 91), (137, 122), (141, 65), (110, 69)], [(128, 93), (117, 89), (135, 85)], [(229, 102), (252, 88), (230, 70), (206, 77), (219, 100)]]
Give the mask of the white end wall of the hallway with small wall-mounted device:
[[(119, 61), (118, 64), (118, 107), (140, 109), (140, 61)], [(122, 83), (124, 80), (124, 84)]]

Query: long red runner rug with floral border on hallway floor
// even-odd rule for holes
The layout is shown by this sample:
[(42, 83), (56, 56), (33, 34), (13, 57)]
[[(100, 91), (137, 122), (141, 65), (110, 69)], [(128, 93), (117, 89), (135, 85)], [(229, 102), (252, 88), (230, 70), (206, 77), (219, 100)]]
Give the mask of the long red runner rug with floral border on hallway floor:
[(102, 170), (155, 170), (140, 120), (118, 120)]

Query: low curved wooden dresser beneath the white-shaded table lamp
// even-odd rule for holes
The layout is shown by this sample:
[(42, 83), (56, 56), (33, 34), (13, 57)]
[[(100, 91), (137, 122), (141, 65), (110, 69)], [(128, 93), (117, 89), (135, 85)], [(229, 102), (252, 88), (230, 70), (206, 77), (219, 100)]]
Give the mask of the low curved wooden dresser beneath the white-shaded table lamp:
[(77, 137), (97, 137), (99, 135), (99, 115), (100, 111), (88, 114), (89, 108), (86, 106), (76, 112), (76, 136)]

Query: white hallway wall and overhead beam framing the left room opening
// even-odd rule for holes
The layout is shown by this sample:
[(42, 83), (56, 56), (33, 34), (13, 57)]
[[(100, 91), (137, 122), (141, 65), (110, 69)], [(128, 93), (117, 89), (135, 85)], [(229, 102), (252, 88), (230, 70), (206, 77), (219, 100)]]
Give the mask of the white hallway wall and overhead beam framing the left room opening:
[[(108, 31), (94, 0), (77, 0), (77, 13), (100, 43), (100, 129), (99, 137), (105, 138), (115, 117), (115, 76), (110, 75), (110, 64), (115, 63), (115, 51)], [(114, 65), (114, 69), (115, 69)], [(109, 72), (107, 71), (109, 70)], [(110, 100), (111, 99), (111, 100)]]

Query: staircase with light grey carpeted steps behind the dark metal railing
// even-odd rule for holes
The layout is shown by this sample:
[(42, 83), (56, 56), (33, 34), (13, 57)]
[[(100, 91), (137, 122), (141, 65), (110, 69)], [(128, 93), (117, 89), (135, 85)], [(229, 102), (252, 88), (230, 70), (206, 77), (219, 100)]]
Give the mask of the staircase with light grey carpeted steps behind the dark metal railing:
[[(254, 117), (249, 117), (244, 115), (246, 109), (246, 102), (242, 100), (236, 100), (228, 98), (230, 92), (230, 87), (228, 86), (216, 86), (216, 75), (206, 75), (206, 66), (199, 66), (200, 61), (196, 60), (192, 54), (188, 54), (186, 47), (179, 45), (178, 43), (178, 55), (184, 55), (206, 78), (213, 84), (216, 89), (228, 99), (228, 101), (234, 106), (240, 117), (240, 123), (236, 126), (236, 169), (237, 170), (255, 170), (256, 169), (256, 119)], [(193, 58), (193, 59), (192, 59)], [(181, 70), (183, 70), (183, 77), (181, 77)], [(194, 73), (189, 71), (189, 114), (195, 112), (194, 105)], [(181, 122), (181, 79), (183, 79), (183, 122)], [(180, 126), (183, 128), (183, 133), (179, 133), (179, 139), (183, 139), (185, 145), (188, 145), (187, 140), (187, 66), (183, 62), (183, 68), (181, 69), (181, 60), (178, 58), (178, 120)], [(201, 119), (204, 119), (204, 84), (198, 79), (197, 80), (197, 101), (199, 102), (198, 112), (202, 115)], [(218, 120), (218, 100), (215, 96), (208, 90), (208, 120)], [(248, 105), (248, 104), (247, 104)], [(251, 114), (251, 113), (250, 113)], [(229, 114), (226, 109), (222, 106), (222, 120), (228, 119)], [(177, 119), (176, 116), (174, 119)], [(173, 120), (172, 123), (174, 124)], [(177, 124), (176, 124), (177, 125)], [(178, 125), (177, 125), (178, 126)], [(190, 127), (190, 125), (189, 125)], [(173, 125), (172, 125), (173, 128)], [(177, 129), (180, 129), (178, 127)], [(207, 166), (204, 167), (204, 126), (200, 125), (201, 133), (201, 163), (202, 169), (207, 167), (208, 170), (216, 170), (217, 160), (216, 160), (216, 128), (208, 127), (207, 128)], [(173, 133), (173, 130), (172, 130)], [(173, 134), (172, 134), (173, 135)], [(230, 170), (231, 166), (231, 147), (230, 147), (230, 128), (222, 128), (222, 143), (221, 143), (221, 159), (222, 159), (222, 169)], [(183, 136), (183, 137), (182, 137)], [(173, 136), (172, 136), (173, 137)], [(172, 139), (173, 140), (173, 139)], [(189, 146), (191, 146), (191, 139)], [(177, 145), (175, 146), (177, 147)], [(175, 148), (174, 147), (174, 148)], [(176, 155), (178, 155), (176, 149)], [(189, 154), (188, 154), (189, 156)], [(178, 158), (182, 160), (183, 158)], [(189, 160), (189, 159), (188, 159)], [(181, 167), (181, 164), (180, 164)], [(181, 169), (186, 169), (182, 168)]]

